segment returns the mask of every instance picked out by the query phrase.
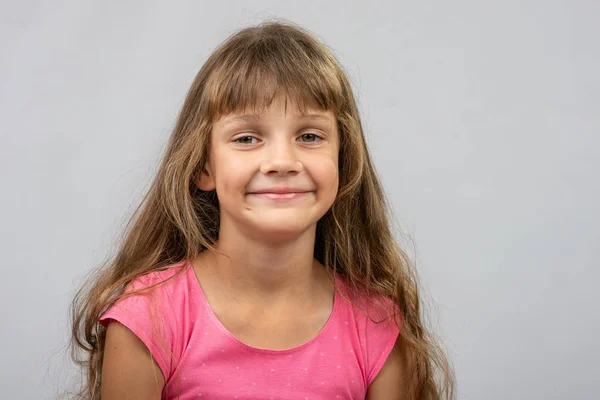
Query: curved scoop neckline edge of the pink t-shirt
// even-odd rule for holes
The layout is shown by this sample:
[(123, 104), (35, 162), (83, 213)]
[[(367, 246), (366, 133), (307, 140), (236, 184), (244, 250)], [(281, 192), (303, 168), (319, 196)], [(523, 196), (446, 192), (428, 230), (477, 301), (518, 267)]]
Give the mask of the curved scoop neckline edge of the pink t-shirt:
[[(335, 287), (334, 287), (333, 306), (331, 309), (331, 313), (329, 314), (329, 318), (327, 319), (327, 322), (325, 322), (325, 325), (323, 326), (323, 328), (321, 328), (321, 330), (313, 338), (307, 340), (306, 342), (304, 342), (302, 344), (299, 344), (298, 346), (291, 347), (289, 349), (280, 349), (280, 350), (279, 349), (264, 349), (264, 348), (260, 348), (260, 347), (250, 346), (250, 345), (242, 342), (235, 335), (233, 335), (231, 332), (229, 332), (229, 330), (221, 323), (219, 318), (217, 318), (217, 315), (214, 313), (212, 307), (210, 306), (210, 304), (208, 302), (208, 299), (206, 298), (206, 295), (204, 294), (204, 290), (202, 289), (202, 285), (200, 285), (200, 281), (198, 279), (198, 276), (196, 275), (196, 271), (195, 271), (192, 263), (188, 261), (188, 262), (186, 262), (186, 264), (184, 266), (185, 266), (185, 268), (188, 269), (188, 271), (187, 271), (188, 279), (191, 279), (193, 281), (192, 285), (193, 285), (193, 288), (195, 289), (193, 295), (195, 295), (197, 293), (196, 300), (200, 301), (202, 303), (202, 306), (206, 309), (206, 312), (208, 313), (210, 320), (226, 337), (228, 337), (228, 339), (231, 342), (233, 342), (237, 346), (242, 347), (243, 349), (245, 349), (247, 351), (250, 351), (253, 353), (270, 354), (270, 355), (286, 355), (286, 354), (291, 354), (291, 353), (301, 351), (301, 350), (317, 343), (318, 341), (320, 341), (321, 338), (323, 338), (327, 334), (327, 332), (331, 329), (331, 326), (334, 324), (336, 318), (338, 318), (341, 299), (339, 297), (340, 295), (337, 290), (339, 282), (338, 282), (338, 278), (336, 276), (335, 280), (334, 280)], [(196, 296), (194, 296), (194, 297), (196, 297)]]

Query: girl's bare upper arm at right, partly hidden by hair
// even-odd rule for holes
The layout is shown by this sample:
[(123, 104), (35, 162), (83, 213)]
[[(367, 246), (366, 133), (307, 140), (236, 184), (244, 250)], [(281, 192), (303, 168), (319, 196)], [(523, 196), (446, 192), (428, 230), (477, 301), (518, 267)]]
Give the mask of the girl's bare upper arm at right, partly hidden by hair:
[(367, 390), (366, 400), (406, 400), (406, 357), (400, 337)]

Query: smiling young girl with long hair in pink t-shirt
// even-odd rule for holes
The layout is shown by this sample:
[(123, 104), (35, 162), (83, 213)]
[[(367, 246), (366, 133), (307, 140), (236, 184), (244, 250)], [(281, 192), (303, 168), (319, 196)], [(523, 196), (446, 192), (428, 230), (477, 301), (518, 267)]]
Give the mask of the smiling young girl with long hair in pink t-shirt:
[(116, 258), (73, 303), (86, 399), (441, 399), (354, 96), (305, 30), (206, 61)]

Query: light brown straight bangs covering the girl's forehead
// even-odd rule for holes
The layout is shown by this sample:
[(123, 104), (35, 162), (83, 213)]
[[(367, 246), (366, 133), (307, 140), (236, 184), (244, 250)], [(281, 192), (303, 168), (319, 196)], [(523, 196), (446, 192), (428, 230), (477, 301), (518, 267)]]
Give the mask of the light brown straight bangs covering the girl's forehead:
[(342, 107), (339, 67), (318, 42), (285, 35), (236, 38), (217, 51), (203, 90), (202, 104), (211, 122), (230, 113), (262, 113), (278, 95), (308, 110)]

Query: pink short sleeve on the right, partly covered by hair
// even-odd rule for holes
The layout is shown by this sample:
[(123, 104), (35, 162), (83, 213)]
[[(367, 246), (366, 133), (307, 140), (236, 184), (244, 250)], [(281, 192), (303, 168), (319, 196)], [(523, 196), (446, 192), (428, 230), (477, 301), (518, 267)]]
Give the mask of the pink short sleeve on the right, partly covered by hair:
[(392, 352), (400, 329), (394, 318), (394, 304), (390, 299), (383, 298), (372, 301), (368, 307), (369, 317), (365, 321), (366, 373), (367, 386), (385, 364)]

